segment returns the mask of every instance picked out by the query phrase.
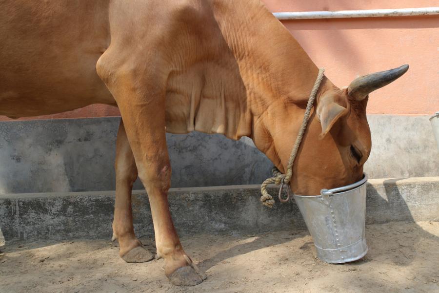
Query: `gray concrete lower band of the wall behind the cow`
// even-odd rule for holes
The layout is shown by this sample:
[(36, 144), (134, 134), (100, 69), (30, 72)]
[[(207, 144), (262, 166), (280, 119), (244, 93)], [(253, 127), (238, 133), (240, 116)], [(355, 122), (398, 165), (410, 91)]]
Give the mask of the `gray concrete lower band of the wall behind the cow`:
[[(369, 178), (439, 176), (429, 116), (368, 115)], [(115, 189), (119, 117), (0, 122), (0, 194)], [(172, 187), (261, 184), (272, 163), (248, 137), (167, 134)], [(143, 188), (140, 181), (135, 188)]]

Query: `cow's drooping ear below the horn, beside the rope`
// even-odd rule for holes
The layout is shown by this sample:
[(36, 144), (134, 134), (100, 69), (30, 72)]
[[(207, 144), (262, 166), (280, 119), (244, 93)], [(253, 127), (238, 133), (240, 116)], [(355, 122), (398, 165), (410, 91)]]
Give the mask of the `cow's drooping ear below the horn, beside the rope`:
[(335, 97), (323, 96), (317, 105), (317, 118), (321, 124), (320, 139), (322, 139), (343, 116), (348, 114), (348, 109)]

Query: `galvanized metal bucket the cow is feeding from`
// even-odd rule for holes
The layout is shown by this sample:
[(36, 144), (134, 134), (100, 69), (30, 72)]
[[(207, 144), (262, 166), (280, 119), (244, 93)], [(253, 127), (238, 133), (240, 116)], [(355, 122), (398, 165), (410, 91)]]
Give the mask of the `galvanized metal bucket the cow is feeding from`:
[(345, 263), (366, 255), (366, 181), (364, 174), (359, 182), (322, 189), (320, 195), (293, 195), (320, 260)]

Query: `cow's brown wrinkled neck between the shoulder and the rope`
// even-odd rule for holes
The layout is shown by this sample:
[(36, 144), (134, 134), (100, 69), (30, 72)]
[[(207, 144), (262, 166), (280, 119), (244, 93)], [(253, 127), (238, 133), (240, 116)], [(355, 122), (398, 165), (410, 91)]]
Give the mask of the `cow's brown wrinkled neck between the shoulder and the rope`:
[(279, 149), (285, 146), (275, 146), (273, 137), (291, 135), (295, 132), (292, 127), (299, 128), (318, 67), (258, 0), (213, 0), (212, 4), (246, 89), (243, 99), (247, 112), (241, 112), (245, 117), (241, 120), (252, 125), (240, 128), (251, 129), (244, 135), (252, 137), (255, 145), (282, 167), (280, 161), (285, 159), (279, 159)]

